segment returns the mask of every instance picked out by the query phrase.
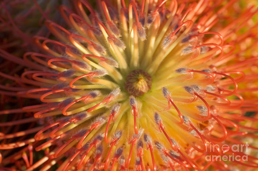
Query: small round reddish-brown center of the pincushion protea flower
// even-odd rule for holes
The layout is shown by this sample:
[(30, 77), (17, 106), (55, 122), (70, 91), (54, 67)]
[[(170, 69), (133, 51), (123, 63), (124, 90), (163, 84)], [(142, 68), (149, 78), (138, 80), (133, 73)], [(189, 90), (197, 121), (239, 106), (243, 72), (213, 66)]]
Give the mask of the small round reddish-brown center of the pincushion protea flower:
[(141, 69), (131, 71), (125, 81), (125, 89), (128, 94), (133, 96), (142, 96), (151, 88), (152, 78), (148, 73)]

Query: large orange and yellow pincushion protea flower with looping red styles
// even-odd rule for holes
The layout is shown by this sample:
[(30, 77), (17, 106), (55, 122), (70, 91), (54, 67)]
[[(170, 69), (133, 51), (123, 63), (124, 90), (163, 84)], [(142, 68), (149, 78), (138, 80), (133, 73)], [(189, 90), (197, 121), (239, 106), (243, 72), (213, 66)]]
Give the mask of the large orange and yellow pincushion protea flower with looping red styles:
[[(96, 6), (60, 5), (64, 25), (37, 4), (51, 39), (34, 37), (42, 53), (24, 54), (18, 63), (30, 68), (20, 78), (0, 75), (16, 81), (1, 94), (42, 103), (0, 112), (3, 170), (255, 170), (254, 7), (202, 0)], [(245, 151), (231, 147), (247, 141), (245, 161)]]

